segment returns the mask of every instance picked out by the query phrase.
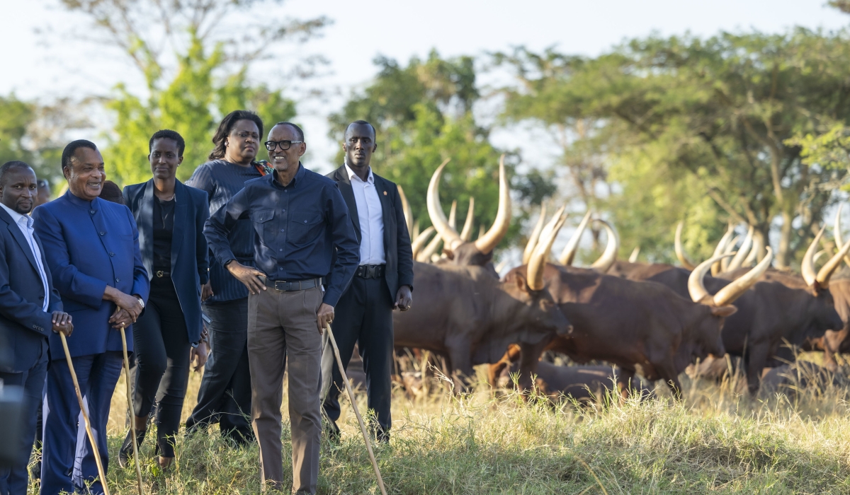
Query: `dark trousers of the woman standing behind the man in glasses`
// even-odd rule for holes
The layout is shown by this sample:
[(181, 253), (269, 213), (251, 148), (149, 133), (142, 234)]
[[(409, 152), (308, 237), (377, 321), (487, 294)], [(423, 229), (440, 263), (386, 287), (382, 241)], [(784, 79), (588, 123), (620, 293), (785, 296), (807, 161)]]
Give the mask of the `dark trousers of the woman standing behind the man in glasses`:
[(251, 368), (248, 366), (248, 298), (204, 304), (212, 353), (204, 368), (198, 403), (186, 430), (218, 422), (222, 436), (252, 442)]

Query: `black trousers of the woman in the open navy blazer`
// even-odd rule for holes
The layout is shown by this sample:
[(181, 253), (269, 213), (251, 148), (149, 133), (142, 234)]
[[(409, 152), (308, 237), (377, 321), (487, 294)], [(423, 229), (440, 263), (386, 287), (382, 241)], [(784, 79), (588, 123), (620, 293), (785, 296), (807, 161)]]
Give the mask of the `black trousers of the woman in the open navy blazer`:
[(133, 325), (136, 380), (135, 415), (146, 417), (156, 402), (156, 445), (174, 457), (174, 437), (189, 382), (189, 335), (171, 278), (153, 278), (150, 298)]

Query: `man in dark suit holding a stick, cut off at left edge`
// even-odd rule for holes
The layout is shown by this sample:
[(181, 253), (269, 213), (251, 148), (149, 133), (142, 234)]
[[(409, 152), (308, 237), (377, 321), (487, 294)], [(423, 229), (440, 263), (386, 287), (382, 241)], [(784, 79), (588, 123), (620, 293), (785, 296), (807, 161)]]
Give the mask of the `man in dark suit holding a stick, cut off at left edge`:
[(51, 330), (71, 335), (71, 316), (62, 312), (41, 241), (27, 215), (37, 196), (36, 172), (23, 161), (0, 166), (0, 336), (11, 363), (0, 365), (0, 382), (20, 386), (26, 397), (18, 457), (0, 469), (0, 495), (26, 493), (26, 465), (36, 435), (38, 403), (48, 369)]

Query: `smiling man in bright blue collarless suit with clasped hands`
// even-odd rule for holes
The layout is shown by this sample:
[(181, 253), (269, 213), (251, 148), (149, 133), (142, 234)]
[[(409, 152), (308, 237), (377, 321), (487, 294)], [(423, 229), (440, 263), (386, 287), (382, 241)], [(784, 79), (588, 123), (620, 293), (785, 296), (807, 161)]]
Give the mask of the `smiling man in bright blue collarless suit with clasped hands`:
[[(150, 290), (139, 252), (139, 232), (125, 205), (100, 200), (106, 180), (94, 143), (78, 140), (62, 152), (68, 192), (32, 213), (48, 267), (76, 331), (68, 348), (88, 406), (92, 432), (108, 469), (106, 421), (122, 368), (122, 326), (132, 351), (132, 324)], [(50, 367), (44, 400), (42, 495), (102, 493), (97, 464), (58, 335), (50, 336)], [(76, 451), (76, 453), (75, 453)]]

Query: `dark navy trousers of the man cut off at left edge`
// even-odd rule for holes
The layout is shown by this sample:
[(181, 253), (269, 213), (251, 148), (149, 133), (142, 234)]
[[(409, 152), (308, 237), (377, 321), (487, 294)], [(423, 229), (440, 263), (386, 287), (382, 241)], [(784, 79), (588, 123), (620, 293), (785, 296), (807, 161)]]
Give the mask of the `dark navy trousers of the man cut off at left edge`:
[(22, 373), (0, 373), (3, 385), (20, 386), (24, 389), (24, 414), (21, 418), (21, 431), (18, 445), (18, 458), (9, 467), (0, 468), (0, 495), (26, 494), (29, 479), (26, 466), (30, 463), (32, 443), (36, 437), (36, 418), (38, 404), (42, 402), (44, 379), (48, 374), (48, 360), (45, 353), (32, 368)]

